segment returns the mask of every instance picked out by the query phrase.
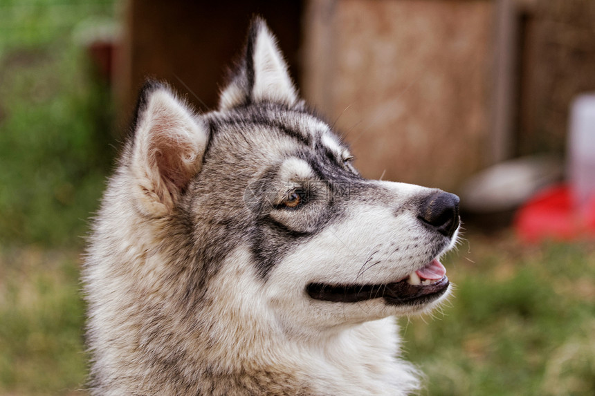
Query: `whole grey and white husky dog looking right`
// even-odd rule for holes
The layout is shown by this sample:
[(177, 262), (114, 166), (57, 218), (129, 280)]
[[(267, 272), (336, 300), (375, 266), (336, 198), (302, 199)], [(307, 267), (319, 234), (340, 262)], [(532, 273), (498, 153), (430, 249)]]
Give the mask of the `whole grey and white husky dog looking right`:
[(255, 19), (219, 109), (147, 82), (83, 270), (93, 395), (406, 395), (458, 198), (367, 180)]

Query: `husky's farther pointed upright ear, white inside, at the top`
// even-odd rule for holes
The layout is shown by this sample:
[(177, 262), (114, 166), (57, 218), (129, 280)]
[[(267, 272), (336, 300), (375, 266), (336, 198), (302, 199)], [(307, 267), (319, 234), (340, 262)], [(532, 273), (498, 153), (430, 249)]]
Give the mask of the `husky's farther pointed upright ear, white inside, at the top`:
[(219, 98), (219, 109), (253, 102), (278, 102), (292, 106), (297, 93), (277, 40), (262, 18), (253, 19), (244, 58)]

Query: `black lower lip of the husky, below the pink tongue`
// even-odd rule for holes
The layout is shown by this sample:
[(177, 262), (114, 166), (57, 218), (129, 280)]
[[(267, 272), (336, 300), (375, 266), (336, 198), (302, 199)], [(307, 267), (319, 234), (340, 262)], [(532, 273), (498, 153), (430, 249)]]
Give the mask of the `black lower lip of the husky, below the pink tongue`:
[(445, 275), (430, 285), (410, 285), (406, 279), (385, 285), (310, 283), (306, 292), (315, 300), (335, 303), (357, 303), (382, 298), (390, 305), (419, 305), (437, 299), (446, 292), (449, 284)]

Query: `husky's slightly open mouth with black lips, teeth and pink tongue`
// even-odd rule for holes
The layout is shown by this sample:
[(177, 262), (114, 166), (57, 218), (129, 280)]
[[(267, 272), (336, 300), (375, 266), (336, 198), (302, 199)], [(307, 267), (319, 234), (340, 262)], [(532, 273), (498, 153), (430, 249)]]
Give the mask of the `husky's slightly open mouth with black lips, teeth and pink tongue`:
[(449, 285), (446, 269), (436, 258), (405, 279), (381, 285), (330, 285), (310, 283), (306, 287), (315, 300), (356, 303), (385, 299), (391, 305), (428, 303), (444, 294)]

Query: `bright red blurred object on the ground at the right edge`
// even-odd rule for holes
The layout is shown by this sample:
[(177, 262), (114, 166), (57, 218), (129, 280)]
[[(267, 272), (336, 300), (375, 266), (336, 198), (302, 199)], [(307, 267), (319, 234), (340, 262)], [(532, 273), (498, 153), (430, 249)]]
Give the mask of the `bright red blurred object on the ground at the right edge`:
[(595, 236), (595, 197), (579, 212), (568, 185), (548, 187), (518, 210), (514, 226), (528, 243)]

